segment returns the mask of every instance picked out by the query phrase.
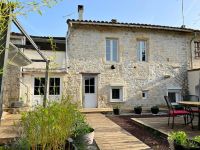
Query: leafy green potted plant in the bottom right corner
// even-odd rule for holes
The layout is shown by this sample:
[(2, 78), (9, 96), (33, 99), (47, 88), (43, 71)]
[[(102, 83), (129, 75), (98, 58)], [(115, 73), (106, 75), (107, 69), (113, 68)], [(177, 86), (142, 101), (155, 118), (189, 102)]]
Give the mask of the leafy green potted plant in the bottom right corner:
[[(195, 137), (198, 140), (198, 137)], [(188, 139), (183, 131), (171, 132), (168, 141), (172, 150), (199, 150), (200, 143), (194, 139)]]

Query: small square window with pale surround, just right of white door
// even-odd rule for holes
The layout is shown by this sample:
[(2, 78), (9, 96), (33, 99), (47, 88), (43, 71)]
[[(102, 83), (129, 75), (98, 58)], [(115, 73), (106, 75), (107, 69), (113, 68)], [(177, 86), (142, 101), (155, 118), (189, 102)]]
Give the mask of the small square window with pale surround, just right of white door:
[(111, 87), (110, 91), (111, 102), (122, 102), (123, 101), (123, 87)]

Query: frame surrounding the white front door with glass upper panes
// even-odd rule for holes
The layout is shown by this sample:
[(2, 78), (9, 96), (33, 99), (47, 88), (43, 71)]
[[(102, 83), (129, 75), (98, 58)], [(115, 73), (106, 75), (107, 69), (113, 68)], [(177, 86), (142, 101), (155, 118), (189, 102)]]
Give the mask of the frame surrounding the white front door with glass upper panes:
[(85, 77), (94, 77), (95, 79), (95, 94), (96, 94), (96, 102), (97, 106), (94, 108), (98, 108), (98, 74), (99, 73), (84, 73), (82, 74), (82, 107), (85, 108)]

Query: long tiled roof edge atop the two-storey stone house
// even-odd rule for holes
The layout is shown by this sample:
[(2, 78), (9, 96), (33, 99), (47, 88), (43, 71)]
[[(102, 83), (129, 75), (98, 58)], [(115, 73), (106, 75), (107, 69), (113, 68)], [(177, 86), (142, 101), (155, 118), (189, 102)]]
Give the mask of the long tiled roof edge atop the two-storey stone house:
[(74, 24), (85, 24), (85, 25), (99, 25), (99, 26), (113, 26), (113, 27), (134, 27), (134, 28), (145, 28), (145, 29), (158, 29), (158, 30), (169, 30), (169, 31), (181, 31), (181, 32), (200, 32), (200, 30), (195, 30), (185, 27), (172, 27), (172, 26), (162, 26), (162, 25), (152, 25), (152, 24), (140, 24), (140, 23), (124, 23), (112, 21), (96, 21), (96, 20), (75, 20), (68, 19), (67, 23)]

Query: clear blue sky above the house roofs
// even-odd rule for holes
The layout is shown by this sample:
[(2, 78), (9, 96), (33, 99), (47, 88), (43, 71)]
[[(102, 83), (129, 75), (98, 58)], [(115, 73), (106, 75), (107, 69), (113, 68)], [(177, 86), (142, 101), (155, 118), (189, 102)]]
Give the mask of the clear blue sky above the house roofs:
[[(77, 19), (77, 5), (84, 5), (84, 20), (147, 23), (181, 26), (181, 0), (63, 0), (53, 8), (42, 9), (43, 15), (30, 13), (19, 17), (31, 35), (65, 36), (67, 19)], [(185, 25), (200, 29), (200, 0), (184, 0)], [(17, 31), (12, 28), (12, 31)]]

